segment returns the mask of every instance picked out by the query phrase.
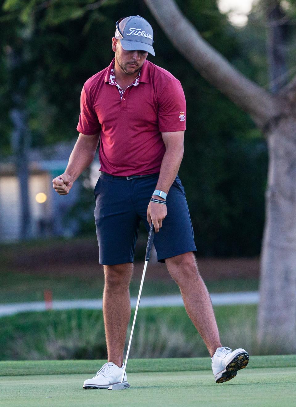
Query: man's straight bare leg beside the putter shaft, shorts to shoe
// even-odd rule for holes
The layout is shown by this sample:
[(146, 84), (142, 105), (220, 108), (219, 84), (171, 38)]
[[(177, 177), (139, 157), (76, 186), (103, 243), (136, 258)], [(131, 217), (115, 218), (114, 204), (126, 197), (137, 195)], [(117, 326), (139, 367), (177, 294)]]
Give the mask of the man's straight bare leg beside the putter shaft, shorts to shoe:
[(133, 263), (104, 266), (103, 316), (108, 362), (121, 368), (127, 326), (131, 317), (129, 282)]

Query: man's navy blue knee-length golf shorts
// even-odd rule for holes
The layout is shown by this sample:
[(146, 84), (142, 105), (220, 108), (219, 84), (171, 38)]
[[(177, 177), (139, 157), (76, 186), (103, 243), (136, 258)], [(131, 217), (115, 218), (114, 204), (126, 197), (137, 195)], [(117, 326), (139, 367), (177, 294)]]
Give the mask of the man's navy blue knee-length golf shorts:
[[(140, 221), (147, 230), (147, 207), (158, 174), (119, 179), (101, 174), (94, 188), (94, 219), (99, 243), (99, 263), (133, 263)], [(177, 176), (167, 195), (167, 216), (154, 236), (158, 261), (196, 250), (184, 188)]]

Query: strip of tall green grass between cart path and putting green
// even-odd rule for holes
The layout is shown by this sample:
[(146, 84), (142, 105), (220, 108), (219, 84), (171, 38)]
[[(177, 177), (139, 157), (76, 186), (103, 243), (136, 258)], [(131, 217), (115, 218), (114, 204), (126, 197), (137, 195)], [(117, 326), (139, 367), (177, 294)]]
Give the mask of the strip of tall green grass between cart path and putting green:
[[(245, 348), (257, 354), (256, 308), (215, 307), (223, 346)], [(198, 357), (208, 356), (208, 352), (184, 308), (172, 307), (140, 309), (130, 355), (133, 358)], [(106, 357), (101, 311), (46, 311), (0, 319), (2, 360)]]

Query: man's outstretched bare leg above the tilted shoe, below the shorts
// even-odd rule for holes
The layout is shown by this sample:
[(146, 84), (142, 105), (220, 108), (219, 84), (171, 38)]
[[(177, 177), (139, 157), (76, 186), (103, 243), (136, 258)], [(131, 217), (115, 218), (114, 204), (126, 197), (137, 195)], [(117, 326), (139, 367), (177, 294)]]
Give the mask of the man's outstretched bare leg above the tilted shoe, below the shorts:
[(198, 272), (194, 254), (188, 252), (170, 257), (165, 263), (180, 287), (187, 314), (212, 357), (221, 342), (210, 295)]

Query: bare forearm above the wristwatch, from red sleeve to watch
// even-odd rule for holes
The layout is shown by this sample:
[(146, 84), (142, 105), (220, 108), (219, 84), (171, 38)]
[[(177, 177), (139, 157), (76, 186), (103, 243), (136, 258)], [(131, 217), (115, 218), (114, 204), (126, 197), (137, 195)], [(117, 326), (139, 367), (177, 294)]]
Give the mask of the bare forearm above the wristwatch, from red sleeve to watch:
[(167, 148), (164, 153), (156, 189), (169, 192), (182, 162), (184, 149)]

